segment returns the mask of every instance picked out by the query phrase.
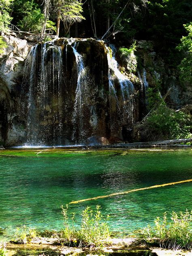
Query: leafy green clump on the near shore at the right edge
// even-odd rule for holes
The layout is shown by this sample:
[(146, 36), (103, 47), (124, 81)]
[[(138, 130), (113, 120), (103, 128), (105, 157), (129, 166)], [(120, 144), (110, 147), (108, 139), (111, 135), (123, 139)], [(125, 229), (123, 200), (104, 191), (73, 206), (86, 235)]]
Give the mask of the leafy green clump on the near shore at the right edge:
[(191, 213), (175, 212), (171, 214), (171, 222), (164, 213), (162, 220), (155, 220), (155, 226), (148, 225), (141, 231), (141, 239), (147, 243), (158, 242), (160, 247), (172, 250), (192, 249), (192, 211)]

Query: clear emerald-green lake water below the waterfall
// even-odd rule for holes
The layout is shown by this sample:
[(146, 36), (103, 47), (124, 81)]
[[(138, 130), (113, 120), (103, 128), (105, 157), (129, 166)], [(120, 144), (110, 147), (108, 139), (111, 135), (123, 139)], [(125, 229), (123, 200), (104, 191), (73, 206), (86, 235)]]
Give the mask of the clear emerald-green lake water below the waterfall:
[[(0, 228), (61, 229), (60, 205), (84, 198), (192, 179), (192, 150), (0, 151)], [(111, 230), (133, 234), (164, 211), (192, 209), (192, 183), (154, 188), (70, 205), (80, 213), (101, 205)], [(78, 215), (77, 215), (78, 217)], [(77, 219), (79, 221), (79, 219)]]

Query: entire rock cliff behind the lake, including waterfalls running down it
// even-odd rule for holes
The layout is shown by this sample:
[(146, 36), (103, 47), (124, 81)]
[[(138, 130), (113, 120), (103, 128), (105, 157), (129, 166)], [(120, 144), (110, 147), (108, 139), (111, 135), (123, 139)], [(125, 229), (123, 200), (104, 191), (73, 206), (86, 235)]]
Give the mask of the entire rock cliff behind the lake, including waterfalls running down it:
[[(169, 105), (190, 103), (177, 74), (167, 70), (151, 43), (138, 42), (119, 67), (115, 48), (94, 39), (60, 38), (45, 44), (5, 37), (0, 55), (0, 144), (67, 145), (130, 140), (130, 130), (146, 113), (146, 88), (171, 86)], [(111, 51), (113, 50), (113, 52)], [(134, 62), (134, 63), (132, 63)], [(123, 67), (124, 66), (124, 67)], [(139, 72), (138, 72), (139, 71)]]

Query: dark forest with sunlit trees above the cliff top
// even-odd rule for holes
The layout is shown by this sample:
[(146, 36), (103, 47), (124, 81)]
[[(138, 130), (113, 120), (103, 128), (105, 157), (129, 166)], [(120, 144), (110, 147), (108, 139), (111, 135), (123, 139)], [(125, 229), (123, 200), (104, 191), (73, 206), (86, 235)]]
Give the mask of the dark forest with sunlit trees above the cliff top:
[(0, 0), (2, 32), (102, 38), (119, 47), (152, 40), (168, 62), (173, 55), (176, 66), (184, 59), (181, 76), (182, 65), (190, 64), (181, 38), (191, 40), (191, 17), (191, 0)]

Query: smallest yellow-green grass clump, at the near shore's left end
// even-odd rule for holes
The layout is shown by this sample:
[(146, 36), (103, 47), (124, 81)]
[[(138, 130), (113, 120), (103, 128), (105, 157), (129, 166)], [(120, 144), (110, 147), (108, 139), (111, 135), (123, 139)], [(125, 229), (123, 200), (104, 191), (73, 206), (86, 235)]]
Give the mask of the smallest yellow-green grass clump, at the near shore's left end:
[(38, 232), (35, 228), (17, 227), (14, 234), (14, 242), (26, 244), (35, 237), (38, 237)]

